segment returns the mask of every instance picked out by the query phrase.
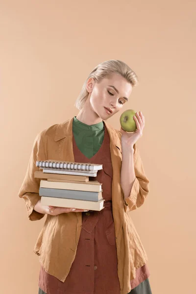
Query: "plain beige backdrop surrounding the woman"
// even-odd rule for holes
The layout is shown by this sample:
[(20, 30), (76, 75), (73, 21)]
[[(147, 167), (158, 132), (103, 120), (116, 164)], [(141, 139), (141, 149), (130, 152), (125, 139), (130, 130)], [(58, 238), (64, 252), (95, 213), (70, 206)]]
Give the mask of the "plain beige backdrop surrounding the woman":
[[(38, 132), (77, 115), (84, 80), (120, 59), (139, 76), (123, 110), (146, 118), (138, 144), (150, 193), (132, 218), (153, 294), (195, 294), (196, 2), (0, 1), (0, 293), (38, 293), (32, 252), (46, 219), (18, 197)], [(120, 129), (121, 113), (108, 123)]]

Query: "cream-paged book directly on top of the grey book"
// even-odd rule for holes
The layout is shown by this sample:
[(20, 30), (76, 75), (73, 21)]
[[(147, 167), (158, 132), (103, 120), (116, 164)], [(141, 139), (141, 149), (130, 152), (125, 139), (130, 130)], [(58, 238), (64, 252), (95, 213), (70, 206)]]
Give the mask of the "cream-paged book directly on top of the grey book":
[(52, 189), (65, 189), (65, 190), (77, 190), (77, 191), (89, 191), (89, 192), (100, 192), (101, 185), (98, 181), (91, 181), (90, 183), (78, 183), (78, 182), (53, 182), (53, 181), (40, 181), (41, 188), (52, 188)]

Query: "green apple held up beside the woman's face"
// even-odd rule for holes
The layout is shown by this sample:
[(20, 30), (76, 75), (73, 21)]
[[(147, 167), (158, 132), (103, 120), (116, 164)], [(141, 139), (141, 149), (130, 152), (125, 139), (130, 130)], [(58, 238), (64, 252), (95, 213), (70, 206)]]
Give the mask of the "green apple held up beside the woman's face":
[(120, 123), (124, 131), (135, 132), (137, 130), (137, 126), (133, 118), (134, 115), (136, 116), (136, 111), (133, 109), (127, 109), (122, 113)]

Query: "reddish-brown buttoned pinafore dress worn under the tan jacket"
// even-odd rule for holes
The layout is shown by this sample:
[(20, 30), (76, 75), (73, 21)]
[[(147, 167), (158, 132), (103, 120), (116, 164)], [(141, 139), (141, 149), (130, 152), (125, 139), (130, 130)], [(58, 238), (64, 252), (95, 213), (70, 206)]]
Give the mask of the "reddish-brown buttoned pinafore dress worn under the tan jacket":
[[(103, 165), (97, 177), (91, 177), (90, 180), (102, 183), (104, 209), (82, 212), (82, 229), (76, 255), (65, 282), (41, 267), (39, 287), (47, 294), (120, 294), (112, 214), (112, 162), (107, 129), (101, 147), (90, 159), (78, 149), (73, 136), (73, 154), (75, 162)], [(136, 270), (136, 278), (130, 281), (131, 287), (138, 286), (148, 276), (146, 266)]]

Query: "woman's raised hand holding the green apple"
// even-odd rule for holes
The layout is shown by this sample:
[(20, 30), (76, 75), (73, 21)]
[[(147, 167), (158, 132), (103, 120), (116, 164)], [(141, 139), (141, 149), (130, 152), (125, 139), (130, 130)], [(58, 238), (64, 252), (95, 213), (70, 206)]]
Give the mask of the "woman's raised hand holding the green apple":
[(133, 145), (138, 141), (139, 138), (142, 137), (143, 134), (143, 129), (145, 126), (145, 117), (140, 111), (139, 114), (136, 112), (136, 117), (133, 117), (137, 129), (135, 132), (132, 133), (127, 133), (125, 132), (122, 127), (121, 127), (121, 133), (122, 133), (122, 138), (121, 138), (121, 143), (122, 143), (122, 148), (133, 148)]

